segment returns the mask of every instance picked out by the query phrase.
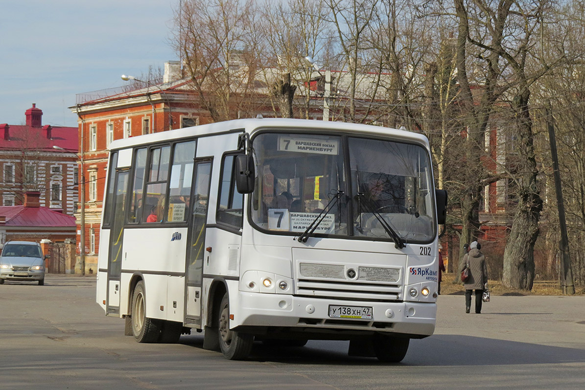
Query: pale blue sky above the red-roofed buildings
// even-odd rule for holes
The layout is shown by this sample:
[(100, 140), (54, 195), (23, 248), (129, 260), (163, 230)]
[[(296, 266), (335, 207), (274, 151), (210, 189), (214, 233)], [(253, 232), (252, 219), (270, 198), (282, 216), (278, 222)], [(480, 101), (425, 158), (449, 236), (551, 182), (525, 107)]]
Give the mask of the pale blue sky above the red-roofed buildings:
[(0, 0), (0, 123), (25, 124), (36, 103), (43, 125), (77, 127), (75, 95), (120, 87), (122, 74), (177, 60), (179, 0)]

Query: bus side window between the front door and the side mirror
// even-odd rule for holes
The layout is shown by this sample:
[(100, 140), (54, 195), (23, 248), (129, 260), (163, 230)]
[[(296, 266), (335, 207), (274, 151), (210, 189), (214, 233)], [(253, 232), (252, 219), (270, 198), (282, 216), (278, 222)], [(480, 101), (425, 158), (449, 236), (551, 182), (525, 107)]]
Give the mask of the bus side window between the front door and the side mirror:
[(223, 156), (216, 222), (227, 223), (239, 229), (242, 227), (244, 196), (236, 190), (234, 163), (233, 154)]

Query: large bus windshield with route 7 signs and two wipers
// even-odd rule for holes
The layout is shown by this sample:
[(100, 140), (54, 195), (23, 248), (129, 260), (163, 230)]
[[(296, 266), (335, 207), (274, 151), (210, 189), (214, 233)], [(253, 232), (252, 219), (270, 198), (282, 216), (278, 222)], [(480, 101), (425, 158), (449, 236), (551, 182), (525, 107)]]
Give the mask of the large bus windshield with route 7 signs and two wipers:
[[(386, 139), (261, 133), (253, 139), (252, 222), (269, 233), (429, 243), (432, 173), (424, 147)], [(324, 212), (325, 210), (325, 212)]]

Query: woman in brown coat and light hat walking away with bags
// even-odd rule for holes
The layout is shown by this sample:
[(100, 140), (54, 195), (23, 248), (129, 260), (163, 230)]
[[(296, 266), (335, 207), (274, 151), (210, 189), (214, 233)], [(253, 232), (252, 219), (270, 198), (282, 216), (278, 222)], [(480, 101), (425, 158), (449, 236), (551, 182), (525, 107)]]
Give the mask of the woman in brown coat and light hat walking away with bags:
[(464, 282), (465, 288), (465, 312), (469, 313), (472, 306), (472, 292), (475, 290), (477, 314), (481, 313), (481, 295), (487, 288), (487, 265), (486, 258), (480, 252), (481, 245), (473, 241), (469, 246), (469, 253), (463, 256), (459, 265), (459, 272), (469, 266), (469, 278)]

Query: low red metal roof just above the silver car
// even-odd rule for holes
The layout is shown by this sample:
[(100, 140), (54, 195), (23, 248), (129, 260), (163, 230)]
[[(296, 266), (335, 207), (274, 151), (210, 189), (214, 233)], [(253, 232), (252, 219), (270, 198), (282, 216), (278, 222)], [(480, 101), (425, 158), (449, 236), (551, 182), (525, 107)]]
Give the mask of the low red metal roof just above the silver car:
[(46, 207), (0, 206), (5, 226), (75, 227), (75, 217)]

